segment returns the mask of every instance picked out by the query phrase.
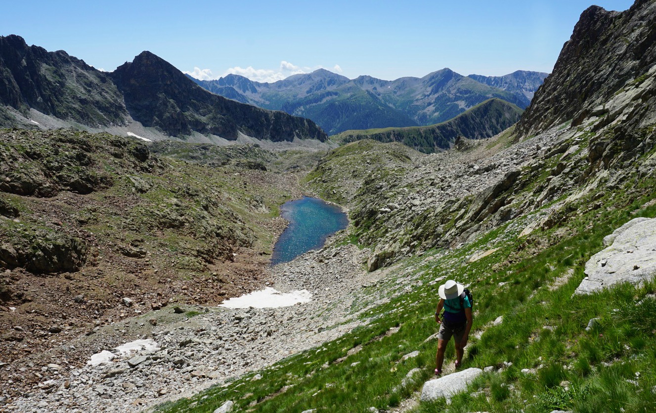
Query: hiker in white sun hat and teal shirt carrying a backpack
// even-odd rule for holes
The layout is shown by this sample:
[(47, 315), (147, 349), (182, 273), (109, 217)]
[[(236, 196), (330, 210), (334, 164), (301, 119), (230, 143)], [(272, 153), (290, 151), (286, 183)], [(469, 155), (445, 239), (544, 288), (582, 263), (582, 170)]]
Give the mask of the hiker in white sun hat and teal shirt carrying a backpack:
[[(435, 357), (435, 374), (441, 376), (444, 351), (453, 336), (455, 344), (455, 368), (462, 364), (464, 346), (467, 345), (469, 331), (472, 329), (472, 303), (464, 292), (464, 286), (449, 280), (440, 286), (440, 302), (435, 310), (435, 321), (440, 324), (438, 332), (438, 353)], [(443, 319), (440, 311), (444, 309)]]

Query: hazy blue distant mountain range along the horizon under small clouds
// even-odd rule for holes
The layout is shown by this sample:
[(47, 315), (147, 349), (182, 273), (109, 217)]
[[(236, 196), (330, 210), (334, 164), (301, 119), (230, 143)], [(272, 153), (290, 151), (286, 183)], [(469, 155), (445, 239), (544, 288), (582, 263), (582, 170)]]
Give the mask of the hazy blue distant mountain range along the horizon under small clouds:
[(424, 77), (385, 81), (348, 79), (325, 69), (259, 83), (239, 75), (201, 81), (207, 90), (260, 108), (308, 117), (329, 134), (351, 129), (412, 127), (441, 123), (499, 98), (525, 109), (548, 73), (516, 71), (499, 77), (463, 76), (441, 69)]

